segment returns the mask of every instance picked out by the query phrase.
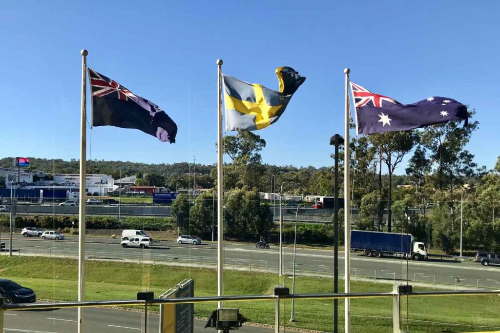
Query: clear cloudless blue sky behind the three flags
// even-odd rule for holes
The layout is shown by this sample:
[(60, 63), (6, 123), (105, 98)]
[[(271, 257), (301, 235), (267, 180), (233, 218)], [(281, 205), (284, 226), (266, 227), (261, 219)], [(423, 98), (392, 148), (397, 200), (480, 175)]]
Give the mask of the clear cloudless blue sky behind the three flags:
[(267, 142), (265, 163), (331, 164), (329, 137), (343, 133), (347, 66), (353, 82), (402, 103), (438, 95), (474, 107), (480, 125), (468, 149), (488, 168), (500, 154), (497, 1), (0, 6), (2, 157), (78, 158), (81, 48), (89, 67), (158, 104), (178, 125), (175, 144), (96, 127), (92, 159), (173, 163), (196, 156), (214, 163), (217, 58), (226, 74), (273, 89), (278, 66), (307, 77), (279, 121), (257, 132)]

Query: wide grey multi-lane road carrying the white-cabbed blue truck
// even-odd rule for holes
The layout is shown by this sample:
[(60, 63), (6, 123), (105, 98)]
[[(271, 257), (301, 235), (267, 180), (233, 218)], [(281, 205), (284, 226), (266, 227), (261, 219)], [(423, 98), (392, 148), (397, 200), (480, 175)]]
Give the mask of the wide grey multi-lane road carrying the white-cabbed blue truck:
[[(2, 242), (5, 242), (8, 247), (8, 239), (2, 235)], [(197, 258), (205, 263), (215, 264), (217, 256), (216, 243), (203, 243), (201, 245), (179, 245), (175, 242), (160, 241), (154, 242), (154, 246), (149, 249), (123, 249), (119, 245), (119, 239), (106, 239), (106, 238), (86, 238), (86, 255), (96, 251), (100, 253), (102, 258), (117, 256), (125, 259), (137, 259), (140, 255), (141, 259), (155, 257), (158, 258), (168, 257), (170, 260), (176, 260), (177, 264), (189, 262), (190, 256)], [(49, 241), (41, 240), (39, 238), (24, 238), (20, 235), (13, 236), (12, 249), (14, 255), (27, 255), (34, 253), (35, 247), (38, 254), (42, 253), (43, 249), (51, 248), (53, 254), (54, 250), (64, 253), (76, 254), (78, 243), (77, 237), (70, 236), (63, 241)], [(20, 253), (16, 249), (20, 247)], [(46, 253), (47, 250), (45, 250)], [(304, 275), (325, 276), (333, 273), (333, 251), (331, 250), (316, 250), (316, 249), (301, 249), (297, 248), (296, 254), (296, 272)], [(283, 249), (283, 263), (286, 274), (291, 274), (293, 267), (293, 249)], [(3, 254), (3, 252), (2, 252)], [(95, 256), (95, 254), (94, 254)], [(240, 269), (252, 269), (268, 272), (276, 272), (278, 267), (279, 252), (277, 247), (270, 249), (256, 249), (253, 245), (247, 244), (226, 244), (224, 246), (224, 257), (226, 269), (231, 269), (233, 266)], [(343, 274), (343, 252), (339, 253), (339, 272)], [(186, 259), (187, 258), (187, 259)], [(189, 266), (189, 265), (188, 265)], [(192, 265), (191, 265), (192, 266)], [(206, 265), (205, 265), (206, 266)], [(474, 262), (462, 262), (451, 260), (437, 260), (430, 259), (427, 261), (408, 261), (395, 258), (366, 258), (358, 253), (351, 253), (351, 279), (361, 280), (364, 278), (379, 280), (399, 280), (406, 279), (410, 282), (416, 280), (416, 283), (433, 285), (449, 285), (454, 287), (470, 287), (473, 288), (500, 288), (500, 267), (483, 267)]]

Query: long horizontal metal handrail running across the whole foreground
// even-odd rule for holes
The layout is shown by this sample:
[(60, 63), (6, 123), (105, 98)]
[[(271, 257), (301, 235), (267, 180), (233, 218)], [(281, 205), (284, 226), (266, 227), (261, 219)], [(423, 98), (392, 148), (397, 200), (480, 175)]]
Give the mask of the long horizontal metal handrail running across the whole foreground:
[[(498, 295), (500, 290), (457, 290), (457, 291), (425, 291), (412, 292), (409, 294), (399, 294), (407, 296), (457, 296), (457, 295)], [(153, 299), (147, 304), (194, 304), (194, 303), (215, 303), (215, 302), (256, 302), (283, 300), (321, 300), (321, 299), (363, 299), (363, 298), (392, 298), (397, 296), (395, 292), (373, 292), (373, 293), (326, 293), (326, 294), (295, 294), (287, 296), (275, 295), (244, 295), (244, 296), (207, 296), (207, 297), (184, 297), (171, 299)], [(38, 304), (7, 304), (3, 306), (6, 311), (39, 310), (39, 309), (62, 309), (62, 308), (91, 308), (91, 307), (112, 307), (112, 306), (132, 306), (144, 305), (146, 301), (118, 300), (118, 301), (81, 301), (81, 302), (61, 302), (61, 303), (38, 303)]]

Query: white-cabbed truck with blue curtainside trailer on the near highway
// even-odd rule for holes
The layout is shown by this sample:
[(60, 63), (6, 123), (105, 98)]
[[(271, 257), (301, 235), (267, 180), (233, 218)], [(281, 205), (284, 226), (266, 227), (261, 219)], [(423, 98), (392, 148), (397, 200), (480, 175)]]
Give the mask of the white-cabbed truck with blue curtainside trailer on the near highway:
[(410, 234), (377, 231), (352, 230), (350, 232), (351, 251), (362, 251), (366, 257), (380, 258), (384, 255), (410, 257), (421, 260), (427, 257), (425, 245), (415, 242)]

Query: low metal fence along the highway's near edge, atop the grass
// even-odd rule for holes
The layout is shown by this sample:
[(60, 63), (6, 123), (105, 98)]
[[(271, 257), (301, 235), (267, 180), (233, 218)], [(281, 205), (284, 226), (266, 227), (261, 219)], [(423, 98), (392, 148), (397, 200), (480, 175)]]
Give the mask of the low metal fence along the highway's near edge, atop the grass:
[[(78, 251), (65, 247), (15, 247), (12, 249), (13, 256), (31, 256), (48, 257), (61, 259), (77, 259)], [(6, 252), (1, 252), (0, 254)], [(170, 265), (180, 267), (201, 267), (216, 268), (216, 257), (201, 257), (190, 255), (158, 254), (147, 250), (137, 251), (136, 249), (123, 249), (122, 251), (106, 250), (86, 250), (86, 260), (107, 261), (121, 263), (139, 263), (150, 265)], [(276, 273), (278, 272), (278, 263), (265, 260), (251, 260), (239, 258), (224, 258), (224, 269), (247, 272)], [(283, 272), (291, 275), (293, 264), (283, 264)], [(388, 270), (370, 270), (351, 267), (351, 280), (372, 282), (372, 283), (390, 283), (395, 284), (398, 281), (406, 280), (413, 283), (414, 286), (427, 288), (446, 288), (446, 289), (497, 289), (500, 287), (500, 279), (477, 279), (461, 278), (459, 276), (442, 276), (424, 273), (410, 273), (408, 277), (403, 275), (405, 272), (396, 272)], [(297, 276), (313, 276), (333, 278), (333, 267), (325, 265), (295, 264), (295, 274)], [(339, 276), (341, 279), (343, 275)]]

